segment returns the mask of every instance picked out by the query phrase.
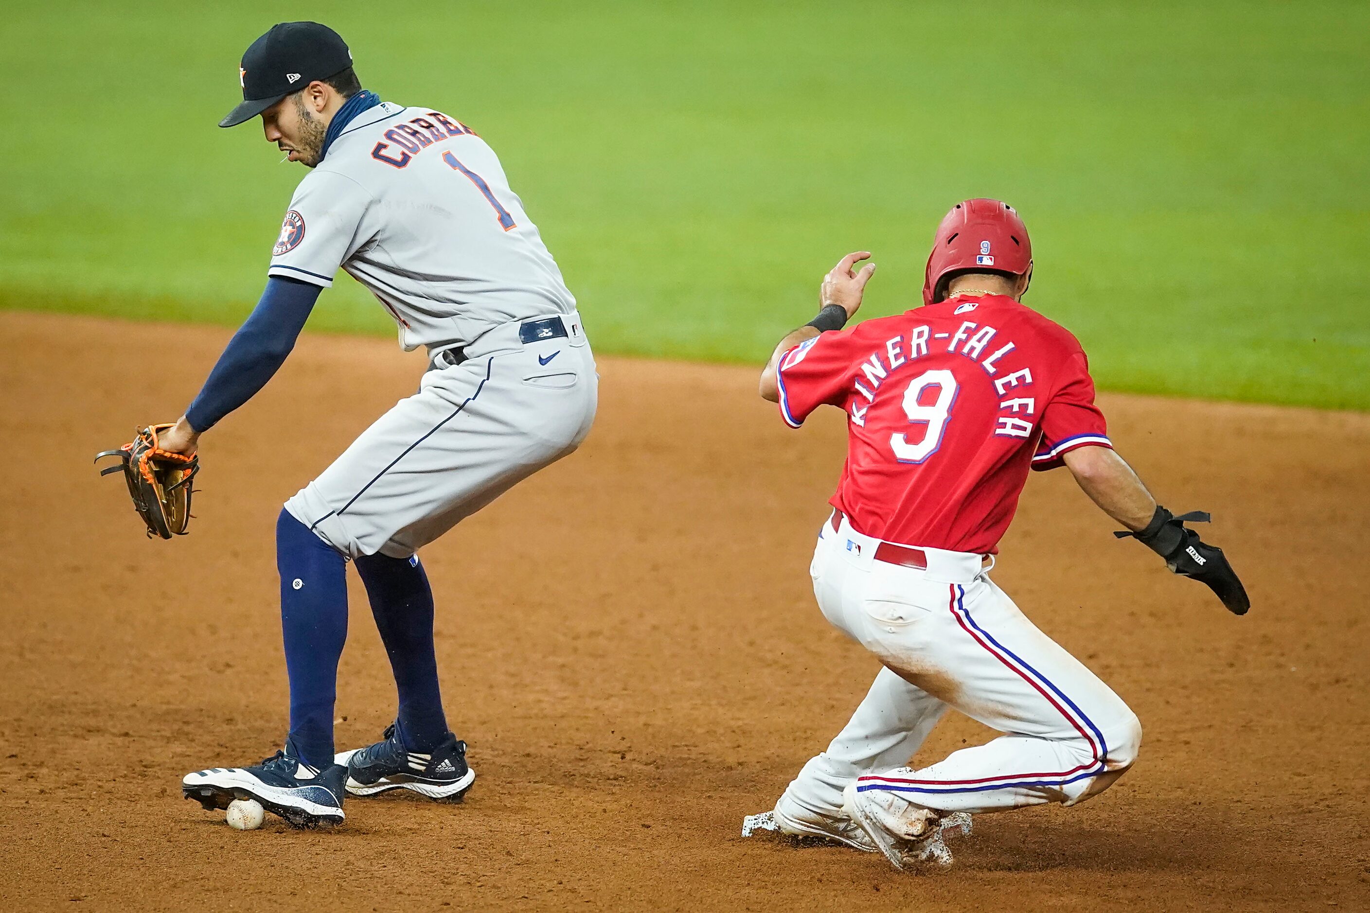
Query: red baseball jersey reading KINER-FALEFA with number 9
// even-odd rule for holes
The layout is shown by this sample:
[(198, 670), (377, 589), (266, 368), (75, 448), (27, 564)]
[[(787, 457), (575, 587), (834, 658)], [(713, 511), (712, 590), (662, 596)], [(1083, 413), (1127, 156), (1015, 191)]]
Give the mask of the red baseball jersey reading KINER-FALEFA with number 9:
[(993, 553), (1029, 467), (1112, 446), (1075, 337), (997, 294), (822, 333), (784, 355), (777, 381), (790, 427), (845, 409), (832, 505), (886, 542)]

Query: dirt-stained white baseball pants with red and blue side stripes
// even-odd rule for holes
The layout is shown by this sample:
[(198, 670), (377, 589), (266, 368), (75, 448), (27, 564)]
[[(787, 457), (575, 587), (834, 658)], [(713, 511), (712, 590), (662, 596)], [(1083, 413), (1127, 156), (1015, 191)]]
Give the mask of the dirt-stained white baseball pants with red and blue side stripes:
[[(943, 812), (1074, 805), (1133, 764), (1141, 724), (1122, 699), (1029, 621), (981, 556), (923, 549), (926, 569), (875, 560), (880, 539), (825, 523), (810, 574), (823, 616), (885, 668), (780, 806), (837, 816), (843, 788)], [(947, 708), (1004, 735), (910, 768)]]

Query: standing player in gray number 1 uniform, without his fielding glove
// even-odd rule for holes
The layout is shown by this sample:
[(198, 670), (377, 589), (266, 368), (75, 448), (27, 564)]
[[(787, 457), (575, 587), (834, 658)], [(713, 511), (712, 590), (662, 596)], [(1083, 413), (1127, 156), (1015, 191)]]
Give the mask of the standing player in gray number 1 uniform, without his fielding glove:
[[(310, 168), (275, 242), (267, 289), (164, 449), (253, 396), (295, 344), (338, 267), (369, 287), (406, 350), (430, 363), (277, 523), (290, 682), (285, 749), (259, 765), (185, 776), (207, 809), (253, 798), (296, 827), (342, 821), (347, 793), (406, 788), (459, 799), (474, 780), (449, 731), (433, 650), (433, 594), (416, 550), (510, 486), (574, 450), (597, 379), (575, 298), (495, 152), (456, 118), (362, 90), (342, 38), (314, 22), (274, 26), (244, 53), (242, 104), (266, 138)], [(334, 756), (345, 567), (366, 584), (395, 672), (384, 738)]]

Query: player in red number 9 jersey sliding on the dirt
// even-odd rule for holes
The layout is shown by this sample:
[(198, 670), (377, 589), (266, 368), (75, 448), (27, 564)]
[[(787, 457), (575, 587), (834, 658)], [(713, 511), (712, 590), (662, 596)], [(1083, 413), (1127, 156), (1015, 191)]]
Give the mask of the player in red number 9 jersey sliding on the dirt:
[[(1249, 606), (1222, 552), (1159, 506), (1108, 439), (1080, 342), (1019, 303), (1032, 245), (996, 200), (937, 229), (923, 307), (838, 331), (874, 264), (848, 255), (822, 312), (786, 335), (760, 379), (792, 427), (847, 412), (848, 453), (811, 575), (823, 616), (880, 657), (880, 675), (827, 750), (758, 828), (947, 865), (943, 834), (970, 814), (1074, 805), (1132, 767), (1141, 724), (1093, 672), (1037, 630), (989, 578), (1029, 468), (1080, 487), (1171, 571)], [(947, 708), (1003, 735), (906, 767)]]

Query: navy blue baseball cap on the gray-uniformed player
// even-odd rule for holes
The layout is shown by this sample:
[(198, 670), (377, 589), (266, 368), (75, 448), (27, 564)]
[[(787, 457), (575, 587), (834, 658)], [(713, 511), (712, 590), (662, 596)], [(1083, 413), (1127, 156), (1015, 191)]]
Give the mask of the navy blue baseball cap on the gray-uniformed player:
[(219, 120), (236, 127), (315, 79), (327, 79), (352, 66), (352, 52), (333, 29), (318, 22), (281, 22), (253, 41), (238, 64), (242, 104)]

